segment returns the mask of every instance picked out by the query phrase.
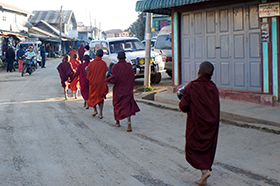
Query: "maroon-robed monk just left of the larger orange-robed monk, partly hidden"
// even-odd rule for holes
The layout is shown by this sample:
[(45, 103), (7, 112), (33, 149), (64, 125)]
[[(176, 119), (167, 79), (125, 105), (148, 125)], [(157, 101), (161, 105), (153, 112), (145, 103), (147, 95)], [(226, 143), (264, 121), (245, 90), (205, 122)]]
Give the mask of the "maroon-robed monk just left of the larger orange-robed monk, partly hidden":
[(89, 55), (84, 55), (84, 63), (81, 63), (77, 71), (74, 75), (74, 77), (79, 77), (80, 81), (80, 86), (81, 86), (81, 94), (84, 99), (84, 107), (88, 109), (89, 107), (87, 106), (87, 101), (88, 101), (88, 93), (89, 93), (89, 81), (86, 78), (86, 68), (90, 62)]

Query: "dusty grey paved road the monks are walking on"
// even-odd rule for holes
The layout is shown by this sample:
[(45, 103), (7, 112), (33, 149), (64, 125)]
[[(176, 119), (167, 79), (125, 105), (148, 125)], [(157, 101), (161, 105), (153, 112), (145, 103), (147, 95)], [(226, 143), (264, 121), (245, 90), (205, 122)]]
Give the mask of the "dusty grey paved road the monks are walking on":
[[(132, 133), (83, 100), (63, 99), (60, 60), (31, 76), (0, 73), (0, 185), (195, 186), (184, 159), (186, 115), (139, 103)], [(112, 88), (112, 87), (110, 87)], [(279, 135), (221, 124), (210, 186), (280, 185)]]

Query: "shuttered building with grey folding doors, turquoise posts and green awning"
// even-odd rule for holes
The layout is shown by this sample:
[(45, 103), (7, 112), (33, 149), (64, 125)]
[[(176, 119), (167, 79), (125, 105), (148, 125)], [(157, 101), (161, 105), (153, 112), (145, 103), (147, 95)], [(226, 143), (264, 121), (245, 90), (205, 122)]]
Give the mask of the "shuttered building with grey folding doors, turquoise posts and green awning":
[(144, 0), (136, 11), (171, 16), (173, 86), (195, 79), (199, 64), (211, 61), (221, 97), (279, 101), (279, 1)]

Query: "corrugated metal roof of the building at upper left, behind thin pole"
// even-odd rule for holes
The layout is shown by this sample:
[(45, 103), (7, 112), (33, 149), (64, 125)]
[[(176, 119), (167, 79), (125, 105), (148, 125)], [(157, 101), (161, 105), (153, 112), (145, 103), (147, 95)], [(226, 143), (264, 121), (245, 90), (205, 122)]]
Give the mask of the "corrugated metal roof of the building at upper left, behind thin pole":
[[(43, 20), (49, 24), (59, 24), (60, 23), (60, 10), (48, 10), (48, 11), (33, 11), (34, 16), (30, 16), (29, 22), (31, 24), (36, 24), (40, 20)], [(73, 14), (72, 10), (62, 11), (62, 23), (68, 23)]]

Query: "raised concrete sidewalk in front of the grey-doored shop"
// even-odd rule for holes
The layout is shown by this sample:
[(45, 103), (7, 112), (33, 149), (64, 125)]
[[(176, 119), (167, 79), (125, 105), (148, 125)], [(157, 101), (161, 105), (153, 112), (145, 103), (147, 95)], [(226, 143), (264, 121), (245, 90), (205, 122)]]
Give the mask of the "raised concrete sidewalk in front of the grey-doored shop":
[[(166, 89), (135, 96), (138, 102), (159, 107), (179, 110), (179, 99), (176, 93), (168, 93)], [(261, 106), (220, 99), (220, 120), (242, 127), (256, 128), (280, 134), (280, 107)]]

